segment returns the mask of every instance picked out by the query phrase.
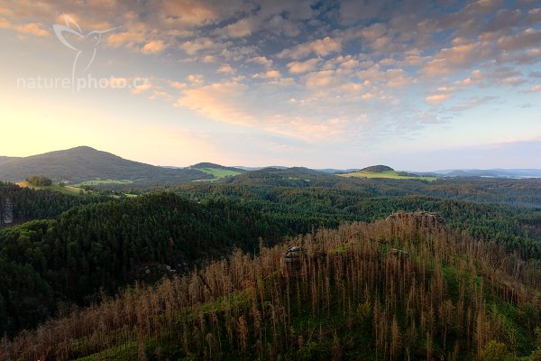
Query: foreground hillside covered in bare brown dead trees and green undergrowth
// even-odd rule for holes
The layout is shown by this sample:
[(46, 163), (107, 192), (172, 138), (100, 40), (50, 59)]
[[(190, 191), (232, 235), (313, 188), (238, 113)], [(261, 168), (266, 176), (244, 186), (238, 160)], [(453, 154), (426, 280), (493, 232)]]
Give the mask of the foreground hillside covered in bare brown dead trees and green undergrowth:
[[(5, 341), (6, 359), (537, 360), (541, 273), (408, 221), (240, 252)], [(520, 264), (519, 267), (518, 264)], [(4, 355), (2, 355), (4, 353)]]

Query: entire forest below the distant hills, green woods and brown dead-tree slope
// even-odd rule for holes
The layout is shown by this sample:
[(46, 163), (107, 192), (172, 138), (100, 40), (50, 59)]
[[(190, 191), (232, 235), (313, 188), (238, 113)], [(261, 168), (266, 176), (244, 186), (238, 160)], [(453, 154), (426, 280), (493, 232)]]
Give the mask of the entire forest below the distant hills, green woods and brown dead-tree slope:
[[(297, 168), (130, 192), (0, 183), (0, 359), (541, 359), (541, 180)], [(445, 227), (381, 221), (419, 209)]]

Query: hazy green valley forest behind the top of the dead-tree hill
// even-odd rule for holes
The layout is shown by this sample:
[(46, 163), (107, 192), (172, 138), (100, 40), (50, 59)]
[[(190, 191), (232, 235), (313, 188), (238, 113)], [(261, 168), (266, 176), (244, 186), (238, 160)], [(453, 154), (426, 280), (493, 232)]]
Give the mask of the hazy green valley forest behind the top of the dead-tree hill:
[(175, 190), (195, 200), (234, 199), (297, 233), (374, 221), (397, 210), (435, 211), (452, 228), (541, 260), (541, 180), (536, 179), (364, 180), (269, 169)]

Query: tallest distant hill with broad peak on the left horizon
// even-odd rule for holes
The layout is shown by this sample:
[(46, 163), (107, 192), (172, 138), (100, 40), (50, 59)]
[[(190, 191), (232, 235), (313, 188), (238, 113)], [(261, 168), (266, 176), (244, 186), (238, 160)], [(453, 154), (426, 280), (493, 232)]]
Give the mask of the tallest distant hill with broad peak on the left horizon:
[(73, 183), (85, 180), (123, 180), (139, 184), (181, 183), (212, 178), (206, 172), (197, 169), (156, 167), (128, 161), (115, 154), (97, 151), (87, 146), (0, 162), (0, 180), (20, 181), (31, 175)]

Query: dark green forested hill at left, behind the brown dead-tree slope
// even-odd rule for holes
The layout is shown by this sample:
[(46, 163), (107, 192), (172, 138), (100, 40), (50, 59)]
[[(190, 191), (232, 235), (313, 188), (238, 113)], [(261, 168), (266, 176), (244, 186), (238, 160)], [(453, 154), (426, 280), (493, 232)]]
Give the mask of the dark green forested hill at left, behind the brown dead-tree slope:
[(85, 304), (100, 290), (115, 294), (236, 247), (255, 252), (259, 237), (272, 243), (284, 231), (233, 202), (203, 205), (172, 193), (89, 204), (1, 230), (0, 334), (36, 325), (60, 301)]

